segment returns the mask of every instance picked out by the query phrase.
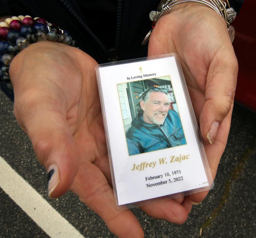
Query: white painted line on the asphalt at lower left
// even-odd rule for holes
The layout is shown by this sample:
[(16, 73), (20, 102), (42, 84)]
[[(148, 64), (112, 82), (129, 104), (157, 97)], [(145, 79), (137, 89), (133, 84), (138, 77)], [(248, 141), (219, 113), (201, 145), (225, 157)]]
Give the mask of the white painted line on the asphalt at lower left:
[(83, 236), (0, 157), (0, 187), (50, 237)]

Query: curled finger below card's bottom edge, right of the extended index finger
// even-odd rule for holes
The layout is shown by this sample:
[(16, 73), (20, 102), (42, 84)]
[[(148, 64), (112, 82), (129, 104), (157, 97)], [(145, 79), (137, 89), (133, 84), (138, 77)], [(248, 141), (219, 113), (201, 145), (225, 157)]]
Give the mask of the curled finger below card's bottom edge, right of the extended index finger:
[(140, 208), (154, 218), (167, 220), (171, 223), (181, 225), (187, 220), (186, 208), (173, 199), (154, 202)]

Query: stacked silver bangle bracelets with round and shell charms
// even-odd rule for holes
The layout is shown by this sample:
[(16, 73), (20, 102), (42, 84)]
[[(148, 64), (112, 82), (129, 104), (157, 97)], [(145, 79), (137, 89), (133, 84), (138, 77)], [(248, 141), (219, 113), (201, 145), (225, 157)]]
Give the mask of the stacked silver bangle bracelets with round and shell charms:
[[(237, 13), (233, 9), (233, 7), (229, 6), (229, 2), (227, 0), (226, 2), (222, 2), (221, 0), (208, 0), (208, 1), (206, 0), (162, 0), (158, 5), (157, 11), (151, 11), (149, 14), (149, 19), (152, 21), (152, 29), (143, 39), (141, 44), (145, 45), (147, 43), (151, 35), (151, 32), (155, 27), (155, 24), (158, 22), (161, 16), (163, 16), (167, 12), (170, 12), (171, 7), (179, 3), (185, 3), (185, 2), (201, 3), (207, 7), (210, 7), (215, 12), (217, 12), (225, 20), (231, 43), (233, 43), (233, 40), (235, 37), (235, 28), (231, 26), (230, 23), (233, 22)], [(226, 9), (227, 6), (228, 8)]]

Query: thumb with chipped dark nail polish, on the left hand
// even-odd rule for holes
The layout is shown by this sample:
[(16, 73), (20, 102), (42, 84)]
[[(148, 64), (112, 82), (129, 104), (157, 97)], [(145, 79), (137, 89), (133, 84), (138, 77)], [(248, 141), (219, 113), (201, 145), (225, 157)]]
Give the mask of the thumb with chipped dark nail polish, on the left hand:
[(14, 112), (27, 132), (39, 162), (46, 167), (49, 196), (56, 198), (70, 188), (77, 173), (78, 157), (66, 121), (65, 99), (46, 97), (45, 94), (38, 89), (18, 94)]

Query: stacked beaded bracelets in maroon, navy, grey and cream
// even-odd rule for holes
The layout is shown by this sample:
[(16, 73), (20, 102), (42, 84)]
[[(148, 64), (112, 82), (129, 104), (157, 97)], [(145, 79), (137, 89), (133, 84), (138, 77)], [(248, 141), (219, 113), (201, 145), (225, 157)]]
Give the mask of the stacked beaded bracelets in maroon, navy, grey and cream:
[(13, 16), (0, 22), (0, 81), (13, 89), (9, 67), (11, 61), (22, 49), (37, 41), (58, 41), (77, 47), (69, 33), (43, 18), (31, 16)]

